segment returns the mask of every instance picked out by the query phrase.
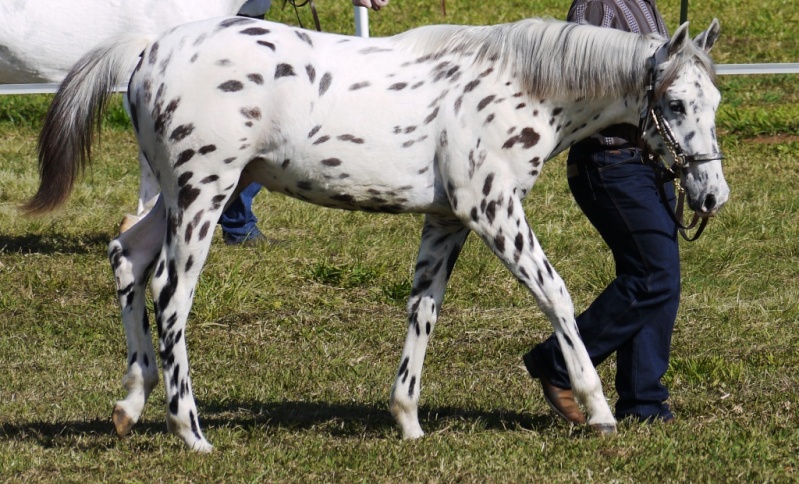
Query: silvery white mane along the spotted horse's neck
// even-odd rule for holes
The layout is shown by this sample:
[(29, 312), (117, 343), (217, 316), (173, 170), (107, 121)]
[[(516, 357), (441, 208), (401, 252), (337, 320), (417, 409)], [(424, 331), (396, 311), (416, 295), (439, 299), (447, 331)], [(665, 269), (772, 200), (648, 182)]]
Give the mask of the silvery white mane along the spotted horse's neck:
[(657, 35), (558, 20), (528, 19), (495, 26), (433, 25), (395, 37), (420, 55), (474, 55), (475, 63), (501, 60), (541, 97), (594, 98), (641, 91)]

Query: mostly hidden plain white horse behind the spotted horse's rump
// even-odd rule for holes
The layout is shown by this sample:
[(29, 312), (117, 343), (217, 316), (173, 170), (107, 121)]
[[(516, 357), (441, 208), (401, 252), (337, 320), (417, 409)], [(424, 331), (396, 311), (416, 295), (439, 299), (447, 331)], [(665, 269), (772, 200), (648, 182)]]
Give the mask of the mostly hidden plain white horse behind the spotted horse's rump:
[[(0, 84), (59, 83), (84, 54), (120, 35), (164, 32), (180, 24), (237, 13), (263, 15), (271, 3), (272, 0), (4, 0), (0, 2)], [(129, 59), (130, 71), (138, 61), (138, 56)], [(121, 231), (139, 221), (158, 196), (158, 183), (141, 153), (139, 169), (136, 216), (125, 216)]]

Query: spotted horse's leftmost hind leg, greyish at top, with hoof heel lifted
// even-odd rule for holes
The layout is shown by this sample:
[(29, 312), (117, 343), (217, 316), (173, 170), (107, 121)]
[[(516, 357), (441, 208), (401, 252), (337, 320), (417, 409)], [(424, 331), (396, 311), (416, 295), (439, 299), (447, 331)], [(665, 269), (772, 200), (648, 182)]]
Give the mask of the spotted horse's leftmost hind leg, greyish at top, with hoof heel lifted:
[(112, 416), (119, 436), (127, 434), (139, 420), (147, 397), (158, 384), (145, 285), (163, 245), (165, 228), (164, 206), (159, 200), (144, 220), (108, 246), (128, 344), (128, 369), (122, 379), (128, 393), (116, 403)]

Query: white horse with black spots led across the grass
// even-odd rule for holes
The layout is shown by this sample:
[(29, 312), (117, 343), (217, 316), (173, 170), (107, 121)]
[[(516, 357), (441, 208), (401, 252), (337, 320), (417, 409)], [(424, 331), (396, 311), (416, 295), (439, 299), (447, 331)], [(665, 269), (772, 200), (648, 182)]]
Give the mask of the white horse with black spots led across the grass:
[[(68, 197), (87, 162), (95, 116), (124, 71), (118, 61), (143, 52), (128, 98), (162, 194), (109, 245), (128, 342), (128, 394), (113, 412), (117, 433), (130, 431), (158, 381), (144, 293), (152, 276), (168, 427), (189, 447), (211, 450), (192, 393), (186, 319), (213, 227), (252, 181), (326, 207), (426, 214), (390, 397), (403, 437), (423, 435), (422, 363), (470, 231), (552, 322), (589, 424), (614, 431), (571, 298), (528, 226), (522, 199), (544, 161), (603, 127), (636, 124), (655, 107), (688, 155), (718, 152), (720, 96), (706, 54), (718, 23), (694, 40), (687, 30), (681, 26), (666, 42), (526, 20), (361, 39), (225, 18), (84, 57), (48, 113), (41, 185), (27, 208), (48, 211)], [(643, 126), (644, 142), (674, 164), (663, 135)], [(691, 160), (682, 173), (689, 205), (711, 216), (729, 194), (720, 156)]]

